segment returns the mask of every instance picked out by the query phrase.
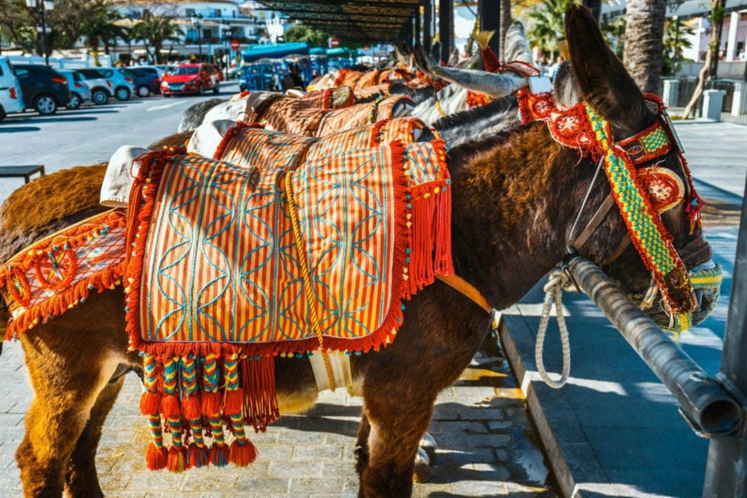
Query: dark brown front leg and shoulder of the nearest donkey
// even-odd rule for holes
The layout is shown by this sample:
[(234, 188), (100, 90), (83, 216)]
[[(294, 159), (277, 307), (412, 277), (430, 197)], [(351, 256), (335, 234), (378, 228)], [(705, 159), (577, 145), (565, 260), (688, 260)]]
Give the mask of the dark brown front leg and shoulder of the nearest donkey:
[[(430, 425), (438, 393), (468, 366), (488, 331), (477, 305), (433, 284), (406, 308), (404, 326), (390, 346), (363, 355), (368, 467), (362, 496), (409, 497), (418, 443)], [(456, 298), (456, 299), (455, 299)]]

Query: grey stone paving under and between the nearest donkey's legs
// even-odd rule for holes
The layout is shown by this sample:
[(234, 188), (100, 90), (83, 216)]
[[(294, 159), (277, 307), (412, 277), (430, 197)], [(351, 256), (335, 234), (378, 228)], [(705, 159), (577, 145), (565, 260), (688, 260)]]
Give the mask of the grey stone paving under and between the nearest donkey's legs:
[[(21, 488), (13, 452), (31, 398), (19, 344), (4, 344), (0, 379), (0, 497), (15, 498)], [(149, 436), (137, 413), (140, 389), (139, 379), (128, 376), (104, 429), (96, 462), (107, 497), (357, 497), (353, 445), (361, 399), (326, 392), (306, 416), (282, 417), (252, 438), (259, 456), (248, 468), (175, 475), (145, 467)], [(437, 464), (413, 496), (554, 497), (521, 391), (495, 346), (478, 353), (459, 383), (441, 394), (431, 433)]]

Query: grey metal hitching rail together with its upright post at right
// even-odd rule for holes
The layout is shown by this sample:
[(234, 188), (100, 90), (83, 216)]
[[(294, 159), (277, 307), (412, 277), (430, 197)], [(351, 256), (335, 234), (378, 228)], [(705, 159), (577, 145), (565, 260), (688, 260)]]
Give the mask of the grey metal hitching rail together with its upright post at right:
[(576, 256), (568, 268), (579, 287), (675, 396), (695, 434), (710, 438), (703, 498), (747, 498), (747, 203), (742, 208), (721, 368), (716, 376), (699, 367), (591, 261)]

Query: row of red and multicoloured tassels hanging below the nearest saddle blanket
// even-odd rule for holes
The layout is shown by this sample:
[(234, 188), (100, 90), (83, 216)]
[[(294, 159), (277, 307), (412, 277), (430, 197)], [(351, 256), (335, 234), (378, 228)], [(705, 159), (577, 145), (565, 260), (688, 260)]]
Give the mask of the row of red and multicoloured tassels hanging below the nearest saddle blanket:
[[(149, 470), (183, 472), (229, 463), (246, 467), (255, 461), (257, 449), (244, 428), (264, 432), (279, 417), (273, 358), (143, 354), (143, 367), (140, 412), (151, 430)], [(164, 443), (164, 431), (171, 435), (170, 446)], [(230, 444), (226, 431), (235, 438)], [(205, 441), (209, 437), (212, 443)]]

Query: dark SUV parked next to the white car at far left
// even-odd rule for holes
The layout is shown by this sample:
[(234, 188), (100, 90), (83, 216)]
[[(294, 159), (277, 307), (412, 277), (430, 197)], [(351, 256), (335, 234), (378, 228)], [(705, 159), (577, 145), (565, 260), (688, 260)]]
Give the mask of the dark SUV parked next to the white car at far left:
[(18, 64), (13, 66), (13, 72), (21, 83), (23, 103), (27, 109), (48, 116), (70, 101), (67, 80), (51, 67)]

